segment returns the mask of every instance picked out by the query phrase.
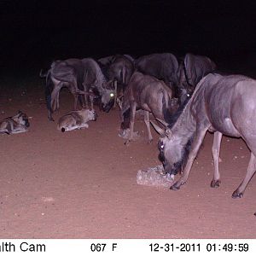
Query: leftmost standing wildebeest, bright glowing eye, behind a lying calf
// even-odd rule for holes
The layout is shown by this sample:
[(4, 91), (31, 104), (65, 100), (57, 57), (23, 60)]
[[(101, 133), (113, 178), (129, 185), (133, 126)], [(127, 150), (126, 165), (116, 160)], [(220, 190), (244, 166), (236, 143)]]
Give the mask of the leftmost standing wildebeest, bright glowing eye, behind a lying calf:
[[(79, 95), (84, 95), (85, 107), (89, 108), (88, 96), (96, 90), (101, 96), (103, 110), (108, 112), (113, 106), (114, 91), (108, 88), (101, 68), (91, 58), (54, 61), (46, 76), (46, 101), (49, 120), (59, 108), (59, 95), (62, 87), (67, 87), (74, 96), (74, 109), (78, 108)], [(91, 108), (93, 103), (91, 100)], [(83, 106), (84, 107), (84, 106)]]

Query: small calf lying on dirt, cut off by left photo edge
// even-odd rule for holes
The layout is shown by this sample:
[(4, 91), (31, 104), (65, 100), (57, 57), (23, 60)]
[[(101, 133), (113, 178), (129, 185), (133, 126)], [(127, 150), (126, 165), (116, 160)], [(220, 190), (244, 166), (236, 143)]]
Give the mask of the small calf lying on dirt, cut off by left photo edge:
[(19, 111), (15, 116), (3, 119), (0, 122), (0, 133), (15, 134), (28, 131), (28, 117)]

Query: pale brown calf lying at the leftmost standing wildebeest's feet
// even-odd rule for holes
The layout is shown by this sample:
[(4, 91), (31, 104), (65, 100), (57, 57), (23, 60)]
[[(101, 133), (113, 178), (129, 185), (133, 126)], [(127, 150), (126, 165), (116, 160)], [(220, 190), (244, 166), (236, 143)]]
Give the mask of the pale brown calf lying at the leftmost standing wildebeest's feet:
[(96, 121), (97, 114), (94, 110), (83, 108), (77, 111), (71, 111), (63, 115), (58, 122), (59, 131), (73, 131), (76, 129), (88, 128), (86, 124), (90, 120)]

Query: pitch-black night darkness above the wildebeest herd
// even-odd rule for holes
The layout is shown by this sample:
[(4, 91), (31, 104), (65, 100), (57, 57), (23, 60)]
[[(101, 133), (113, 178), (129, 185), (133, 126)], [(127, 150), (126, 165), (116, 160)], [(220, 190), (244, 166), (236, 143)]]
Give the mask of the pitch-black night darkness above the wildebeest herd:
[(191, 52), (250, 74), (256, 59), (253, 2), (0, 1), (1, 73), (38, 73), (71, 57)]

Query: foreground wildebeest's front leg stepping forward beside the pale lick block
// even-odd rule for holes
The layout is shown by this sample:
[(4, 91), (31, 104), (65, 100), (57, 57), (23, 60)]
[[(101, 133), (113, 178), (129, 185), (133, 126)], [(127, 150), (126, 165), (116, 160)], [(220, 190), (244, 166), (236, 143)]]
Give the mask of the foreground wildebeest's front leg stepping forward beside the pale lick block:
[(189, 177), (189, 172), (195, 160), (196, 154), (199, 148), (201, 147), (201, 143), (203, 142), (206, 132), (207, 132), (207, 129), (201, 129), (201, 131), (196, 132), (195, 140), (194, 140), (194, 143), (192, 144), (192, 149), (189, 153), (189, 159), (184, 168), (182, 177), (180, 177), (180, 179), (176, 183), (174, 183), (170, 189), (172, 190), (180, 189), (180, 186), (187, 182), (187, 179)]

